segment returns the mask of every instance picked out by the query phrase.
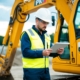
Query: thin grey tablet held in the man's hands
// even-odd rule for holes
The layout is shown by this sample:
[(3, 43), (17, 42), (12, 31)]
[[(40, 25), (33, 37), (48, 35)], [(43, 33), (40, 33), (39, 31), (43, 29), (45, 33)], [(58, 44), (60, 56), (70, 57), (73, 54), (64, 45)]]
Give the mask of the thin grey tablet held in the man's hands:
[(51, 49), (52, 49), (52, 52), (51, 53), (57, 53), (57, 50), (59, 48), (65, 48), (69, 44), (70, 43), (68, 43), (68, 42), (57, 42), (57, 43), (53, 44), (53, 46), (51, 47)]

